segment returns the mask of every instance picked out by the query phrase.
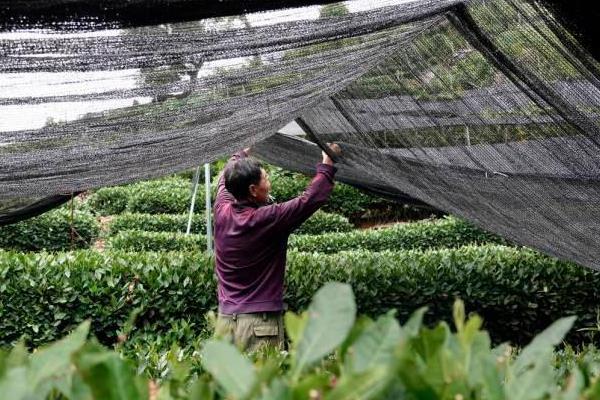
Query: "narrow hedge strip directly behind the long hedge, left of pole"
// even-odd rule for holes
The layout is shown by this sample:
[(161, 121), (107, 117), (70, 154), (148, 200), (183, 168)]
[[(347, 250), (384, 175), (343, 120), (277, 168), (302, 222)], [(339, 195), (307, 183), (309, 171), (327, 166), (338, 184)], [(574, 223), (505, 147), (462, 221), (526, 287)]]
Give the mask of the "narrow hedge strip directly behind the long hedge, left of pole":
[(121, 231), (109, 237), (106, 245), (125, 251), (205, 251), (206, 238), (180, 232)]

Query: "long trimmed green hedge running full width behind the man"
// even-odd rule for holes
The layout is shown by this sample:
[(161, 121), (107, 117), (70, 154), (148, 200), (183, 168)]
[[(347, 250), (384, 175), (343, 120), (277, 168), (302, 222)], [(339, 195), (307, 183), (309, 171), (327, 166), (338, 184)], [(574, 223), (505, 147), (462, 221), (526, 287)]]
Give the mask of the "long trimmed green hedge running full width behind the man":
[[(110, 344), (136, 309), (134, 334), (144, 327), (161, 334), (180, 320), (200, 332), (205, 313), (216, 307), (213, 263), (198, 251), (0, 252), (0, 279), (0, 344), (23, 335), (45, 343), (86, 318)], [(449, 321), (448, 304), (460, 297), (485, 318), (495, 341), (517, 344), (563, 315), (577, 315), (577, 328), (595, 326), (600, 298), (600, 272), (503, 246), (288, 254), (291, 309), (306, 308), (328, 281), (352, 286), (359, 313), (397, 309), (400, 320), (428, 306), (427, 321)], [(573, 331), (569, 339), (588, 337)]]

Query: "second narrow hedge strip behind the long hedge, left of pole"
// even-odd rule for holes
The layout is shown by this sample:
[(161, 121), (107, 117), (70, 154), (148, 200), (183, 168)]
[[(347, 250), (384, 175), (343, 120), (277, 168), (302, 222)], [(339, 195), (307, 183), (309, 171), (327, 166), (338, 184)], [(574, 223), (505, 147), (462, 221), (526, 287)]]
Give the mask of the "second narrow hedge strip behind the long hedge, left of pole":
[[(140, 214), (124, 213), (115, 215), (109, 224), (109, 232), (114, 235), (121, 231), (147, 232), (185, 232), (189, 215), (187, 214)], [(204, 214), (194, 214), (192, 217), (193, 233), (206, 232), (206, 217)]]

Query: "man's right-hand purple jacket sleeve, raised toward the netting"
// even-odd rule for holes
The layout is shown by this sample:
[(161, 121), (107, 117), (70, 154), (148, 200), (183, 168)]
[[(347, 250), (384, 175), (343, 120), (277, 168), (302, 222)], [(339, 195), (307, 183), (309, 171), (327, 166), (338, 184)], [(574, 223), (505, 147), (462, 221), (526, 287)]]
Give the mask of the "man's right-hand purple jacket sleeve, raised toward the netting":
[(264, 213), (263, 218), (273, 221), (275, 231), (291, 233), (327, 203), (333, 190), (335, 172), (336, 168), (331, 165), (318, 164), (317, 174), (300, 196), (284, 203), (261, 207), (257, 212)]

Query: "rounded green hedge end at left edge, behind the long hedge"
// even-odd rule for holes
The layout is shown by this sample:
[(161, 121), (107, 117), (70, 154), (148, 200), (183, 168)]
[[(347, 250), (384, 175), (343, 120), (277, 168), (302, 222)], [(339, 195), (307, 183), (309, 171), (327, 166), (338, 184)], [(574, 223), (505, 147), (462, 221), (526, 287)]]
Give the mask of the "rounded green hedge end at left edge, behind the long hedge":
[(85, 248), (98, 237), (100, 226), (86, 209), (61, 207), (16, 224), (0, 227), (0, 248), (22, 251), (68, 250)]

